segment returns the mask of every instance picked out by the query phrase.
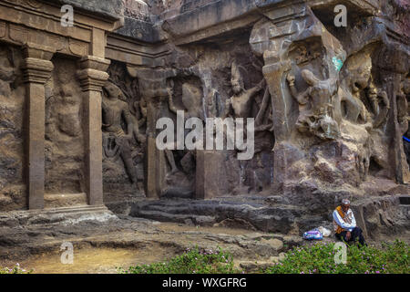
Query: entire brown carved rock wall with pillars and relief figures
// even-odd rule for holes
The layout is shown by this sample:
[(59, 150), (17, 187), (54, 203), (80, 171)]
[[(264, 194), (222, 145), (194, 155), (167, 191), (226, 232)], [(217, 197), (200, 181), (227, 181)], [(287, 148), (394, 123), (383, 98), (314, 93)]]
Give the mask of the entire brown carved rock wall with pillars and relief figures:
[[(408, 193), (408, 5), (343, 4), (347, 27), (330, 0), (1, 2), (0, 210)], [(177, 110), (254, 118), (255, 155), (159, 151)]]

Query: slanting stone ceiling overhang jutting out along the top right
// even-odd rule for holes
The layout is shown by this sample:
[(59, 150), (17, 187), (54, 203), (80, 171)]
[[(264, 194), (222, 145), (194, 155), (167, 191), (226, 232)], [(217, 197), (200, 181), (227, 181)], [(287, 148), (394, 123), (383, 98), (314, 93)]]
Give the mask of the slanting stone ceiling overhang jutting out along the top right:
[(166, 18), (162, 28), (173, 37), (177, 45), (190, 44), (222, 35), (231, 29), (250, 26), (262, 16), (282, 21), (283, 16), (296, 16), (289, 11), (282, 15), (284, 7), (291, 10), (294, 6), (306, 3), (313, 9), (325, 10), (330, 15), (334, 15), (333, 7), (338, 4), (354, 7), (356, 14), (362, 16), (373, 16), (378, 11), (376, 0), (218, 0)]

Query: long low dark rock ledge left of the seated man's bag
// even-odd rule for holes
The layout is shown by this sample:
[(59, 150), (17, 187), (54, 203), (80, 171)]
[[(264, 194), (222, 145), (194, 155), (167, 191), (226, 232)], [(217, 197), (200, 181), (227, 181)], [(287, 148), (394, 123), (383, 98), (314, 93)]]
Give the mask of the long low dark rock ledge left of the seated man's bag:
[[(160, 200), (135, 203), (130, 215), (160, 222), (179, 224), (212, 225), (231, 220), (238, 221), (264, 232), (288, 234), (303, 218), (306, 223), (317, 227), (323, 217), (309, 216), (305, 210), (284, 203), (266, 203), (266, 197), (257, 199), (239, 198), (236, 202), (229, 199), (207, 201)], [(238, 224), (237, 224), (238, 225)]]

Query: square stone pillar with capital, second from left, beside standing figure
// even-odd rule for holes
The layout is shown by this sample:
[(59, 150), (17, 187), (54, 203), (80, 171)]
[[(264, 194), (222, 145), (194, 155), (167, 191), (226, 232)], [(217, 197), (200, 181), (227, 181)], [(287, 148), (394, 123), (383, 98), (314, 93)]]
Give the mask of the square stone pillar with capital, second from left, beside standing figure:
[(108, 59), (86, 56), (80, 59), (77, 72), (84, 100), (86, 185), (90, 205), (103, 204), (101, 93), (109, 77), (105, 72), (109, 64)]

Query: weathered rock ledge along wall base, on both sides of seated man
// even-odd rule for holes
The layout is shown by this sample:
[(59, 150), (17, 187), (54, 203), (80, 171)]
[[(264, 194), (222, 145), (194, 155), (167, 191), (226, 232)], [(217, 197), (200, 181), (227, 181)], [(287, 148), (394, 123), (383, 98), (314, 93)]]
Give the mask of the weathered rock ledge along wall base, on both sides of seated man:
[[(403, 203), (408, 196), (356, 197), (352, 208), (364, 235), (374, 240), (383, 235), (398, 235), (409, 227), (408, 208)], [(129, 215), (160, 222), (227, 226), (290, 235), (291, 245), (298, 245), (297, 236), (315, 227), (324, 226), (333, 231), (332, 213), (338, 196), (321, 208), (313, 200), (293, 201), (295, 204), (272, 203), (278, 197), (235, 197), (208, 201), (160, 200), (133, 203)], [(282, 198), (281, 198), (282, 200)], [(330, 198), (329, 198), (330, 200)], [(283, 200), (282, 200), (283, 201)], [(296, 204), (297, 203), (297, 204)], [(314, 215), (313, 215), (314, 214)], [(293, 236), (292, 236), (293, 235)], [(294, 236), (296, 235), (296, 237)]]

